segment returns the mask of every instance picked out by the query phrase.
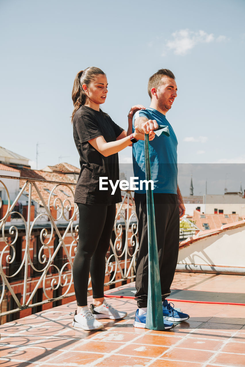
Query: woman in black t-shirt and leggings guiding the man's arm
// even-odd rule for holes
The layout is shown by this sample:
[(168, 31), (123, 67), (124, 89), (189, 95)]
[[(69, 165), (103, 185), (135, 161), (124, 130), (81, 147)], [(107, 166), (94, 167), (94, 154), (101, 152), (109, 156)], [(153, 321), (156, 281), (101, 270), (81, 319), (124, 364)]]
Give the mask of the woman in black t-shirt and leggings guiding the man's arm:
[[(73, 135), (81, 166), (74, 199), (79, 209), (79, 242), (72, 272), (78, 308), (72, 326), (84, 330), (103, 328), (96, 319), (115, 320), (127, 316), (127, 312), (114, 309), (104, 300), (105, 256), (121, 191), (117, 186), (111, 195), (111, 185), (108, 190), (101, 189), (99, 178), (106, 177), (115, 184), (119, 179), (117, 153), (132, 142), (144, 139), (137, 130), (131, 134), (132, 117), (143, 106), (130, 109), (128, 131), (100, 110), (100, 104), (106, 100), (107, 85), (105, 73), (91, 67), (77, 74), (72, 90)], [(149, 139), (153, 138), (154, 133), (149, 135)], [(90, 310), (87, 305), (89, 272), (93, 290)]]

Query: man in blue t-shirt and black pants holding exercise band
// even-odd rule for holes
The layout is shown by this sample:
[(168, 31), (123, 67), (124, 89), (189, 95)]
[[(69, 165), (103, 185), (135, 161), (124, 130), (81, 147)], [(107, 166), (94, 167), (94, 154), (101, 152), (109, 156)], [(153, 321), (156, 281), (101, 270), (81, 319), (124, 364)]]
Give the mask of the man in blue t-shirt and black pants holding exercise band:
[[(168, 127), (165, 135), (156, 136), (149, 142), (150, 166), (154, 181), (153, 199), (156, 220), (156, 236), (159, 257), (161, 297), (163, 301), (164, 327), (173, 327), (172, 321), (187, 320), (189, 316), (175, 310), (168, 304), (170, 286), (177, 265), (180, 218), (185, 214), (185, 206), (177, 184), (177, 138), (166, 119), (174, 99), (177, 86), (174, 74), (168, 69), (160, 69), (148, 82), (150, 107), (135, 113), (133, 130), (149, 134), (157, 130), (158, 125)], [(166, 128), (164, 129), (166, 132)], [(144, 142), (133, 144), (134, 175), (139, 180), (145, 179)], [(145, 327), (148, 297), (148, 225), (146, 208), (146, 190), (135, 191), (136, 214), (139, 220), (139, 252), (136, 263), (136, 294), (138, 310), (134, 327)]]

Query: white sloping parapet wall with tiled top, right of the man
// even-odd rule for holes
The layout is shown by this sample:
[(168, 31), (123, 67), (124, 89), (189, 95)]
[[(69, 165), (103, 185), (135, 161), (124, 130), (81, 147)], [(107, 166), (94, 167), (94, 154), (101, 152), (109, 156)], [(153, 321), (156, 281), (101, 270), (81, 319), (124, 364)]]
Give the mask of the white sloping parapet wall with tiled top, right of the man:
[(181, 242), (177, 271), (188, 270), (245, 274), (245, 221), (199, 232)]

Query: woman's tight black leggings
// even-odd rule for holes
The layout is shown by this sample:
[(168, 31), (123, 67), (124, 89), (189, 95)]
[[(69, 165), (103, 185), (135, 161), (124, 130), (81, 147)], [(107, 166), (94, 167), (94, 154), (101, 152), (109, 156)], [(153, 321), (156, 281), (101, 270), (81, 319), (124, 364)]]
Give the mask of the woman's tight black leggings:
[(78, 203), (79, 241), (73, 261), (73, 279), (78, 306), (86, 306), (89, 271), (93, 298), (104, 297), (105, 256), (116, 216), (116, 205)]

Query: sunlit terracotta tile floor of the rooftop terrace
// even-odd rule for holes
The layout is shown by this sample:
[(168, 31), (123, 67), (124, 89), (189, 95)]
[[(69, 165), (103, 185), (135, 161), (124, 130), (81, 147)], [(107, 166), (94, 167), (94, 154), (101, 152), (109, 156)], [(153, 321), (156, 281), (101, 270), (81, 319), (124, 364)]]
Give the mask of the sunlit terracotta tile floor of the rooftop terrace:
[[(245, 276), (176, 273), (172, 286), (245, 292)], [(167, 332), (134, 328), (134, 299), (107, 299), (128, 316), (97, 332), (71, 326), (75, 302), (1, 325), (0, 366), (245, 366), (244, 306), (174, 302), (190, 318)]]

